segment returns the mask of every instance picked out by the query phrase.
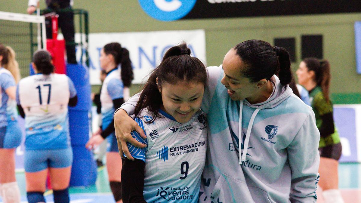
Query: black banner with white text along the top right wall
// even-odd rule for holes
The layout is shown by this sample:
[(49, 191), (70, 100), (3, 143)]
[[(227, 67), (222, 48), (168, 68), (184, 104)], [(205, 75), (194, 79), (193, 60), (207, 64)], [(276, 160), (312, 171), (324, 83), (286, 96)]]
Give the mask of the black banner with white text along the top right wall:
[(182, 19), (361, 12), (361, 0), (197, 0)]

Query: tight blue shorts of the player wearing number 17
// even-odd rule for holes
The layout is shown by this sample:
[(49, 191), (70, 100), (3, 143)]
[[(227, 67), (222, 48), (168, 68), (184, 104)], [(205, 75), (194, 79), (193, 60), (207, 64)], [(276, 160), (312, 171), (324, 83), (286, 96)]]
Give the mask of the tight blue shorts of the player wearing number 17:
[(47, 168), (66, 168), (73, 163), (73, 150), (25, 150), (25, 172), (38, 172)]

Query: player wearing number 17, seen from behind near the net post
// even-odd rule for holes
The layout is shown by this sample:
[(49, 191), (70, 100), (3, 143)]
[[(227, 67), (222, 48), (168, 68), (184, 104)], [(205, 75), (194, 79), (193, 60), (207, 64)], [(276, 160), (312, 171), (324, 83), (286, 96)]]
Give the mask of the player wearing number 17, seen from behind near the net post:
[(25, 116), (25, 177), (29, 203), (45, 202), (48, 169), (54, 202), (69, 202), (73, 152), (70, 146), (68, 105), (77, 104), (73, 82), (53, 73), (51, 55), (40, 50), (32, 63), (35, 75), (21, 79), (16, 100)]

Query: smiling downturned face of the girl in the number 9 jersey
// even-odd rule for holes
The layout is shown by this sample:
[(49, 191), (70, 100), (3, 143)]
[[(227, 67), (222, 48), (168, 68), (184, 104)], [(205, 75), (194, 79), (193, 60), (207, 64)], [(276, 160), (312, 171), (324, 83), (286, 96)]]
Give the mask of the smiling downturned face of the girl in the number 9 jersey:
[(176, 84), (163, 82), (161, 109), (180, 123), (188, 122), (200, 109), (204, 94), (204, 83), (179, 81)]

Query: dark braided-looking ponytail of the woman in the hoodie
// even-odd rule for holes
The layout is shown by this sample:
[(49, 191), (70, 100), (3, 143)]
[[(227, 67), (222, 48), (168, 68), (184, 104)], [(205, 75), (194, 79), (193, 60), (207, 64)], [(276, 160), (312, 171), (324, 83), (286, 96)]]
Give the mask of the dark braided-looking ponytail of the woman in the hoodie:
[(287, 85), (292, 81), (290, 54), (283, 47), (274, 48), (279, 62), (279, 81), (281, 85)]

